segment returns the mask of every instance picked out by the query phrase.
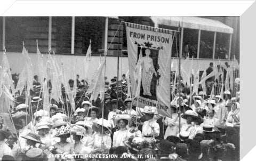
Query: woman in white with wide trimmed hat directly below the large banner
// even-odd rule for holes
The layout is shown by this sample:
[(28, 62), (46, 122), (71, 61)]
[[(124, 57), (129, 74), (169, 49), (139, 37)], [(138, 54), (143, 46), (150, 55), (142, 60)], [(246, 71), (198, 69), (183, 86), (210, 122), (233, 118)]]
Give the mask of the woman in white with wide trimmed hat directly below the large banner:
[(160, 133), (159, 124), (154, 119), (154, 115), (157, 114), (157, 108), (153, 106), (145, 106), (143, 114), (146, 118), (146, 122), (144, 122), (142, 126), (142, 135), (145, 140), (152, 142), (152, 139)]

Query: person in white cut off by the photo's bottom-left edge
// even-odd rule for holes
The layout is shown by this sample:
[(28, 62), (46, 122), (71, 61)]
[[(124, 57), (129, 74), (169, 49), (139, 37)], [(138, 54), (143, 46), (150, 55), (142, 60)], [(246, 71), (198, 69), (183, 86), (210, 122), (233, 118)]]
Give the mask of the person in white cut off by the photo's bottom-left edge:
[(5, 143), (5, 139), (8, 137), (7, 127), (2, 124), (2, 128), (0, 129), (0, 160), (4, 155), (11, 155), (12, 150), (7, 144)]

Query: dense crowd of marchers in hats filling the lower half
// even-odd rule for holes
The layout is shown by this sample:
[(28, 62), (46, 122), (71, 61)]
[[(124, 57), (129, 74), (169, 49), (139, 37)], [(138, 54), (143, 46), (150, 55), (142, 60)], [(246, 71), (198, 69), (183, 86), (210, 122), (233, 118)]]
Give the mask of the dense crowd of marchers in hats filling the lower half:
[(172, 117), (165, 117), (156, 107), (132, 106), (125, 76), (105, 82), (103, 102), (100, 97), (90, 102), (86, 83), (77, 78), (73, 111), (65, 88), (63, 99), (51, 100), (46, 109), (34, 78), (30, 102), (27, 90), (15, 93), (11, 111), (1, 114), (2, 160), (239, 160), (239, 97), (231, 98), (229, 91), (223, 96), (199, 91), (189, 99), (180, 89), (171, 100)]

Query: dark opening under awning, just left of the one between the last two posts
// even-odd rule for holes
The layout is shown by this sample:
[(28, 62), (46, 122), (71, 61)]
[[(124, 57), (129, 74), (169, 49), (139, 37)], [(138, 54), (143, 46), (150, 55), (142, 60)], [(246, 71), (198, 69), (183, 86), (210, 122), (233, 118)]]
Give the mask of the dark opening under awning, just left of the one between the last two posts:
[(199, 58), (212, 59), (214, 32), (201, 30)]

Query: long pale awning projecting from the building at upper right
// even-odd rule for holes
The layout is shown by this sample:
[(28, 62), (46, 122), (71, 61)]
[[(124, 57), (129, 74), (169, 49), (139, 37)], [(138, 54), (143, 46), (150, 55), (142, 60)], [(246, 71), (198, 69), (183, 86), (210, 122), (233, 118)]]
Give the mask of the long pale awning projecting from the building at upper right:
[(218, 33), (233, 34), (233, 28), (225, 25), (224, 23), (199, 17), (150, 17), (151, 20), (157, 25), (166, 25), (184, 28), (216, 31)]

